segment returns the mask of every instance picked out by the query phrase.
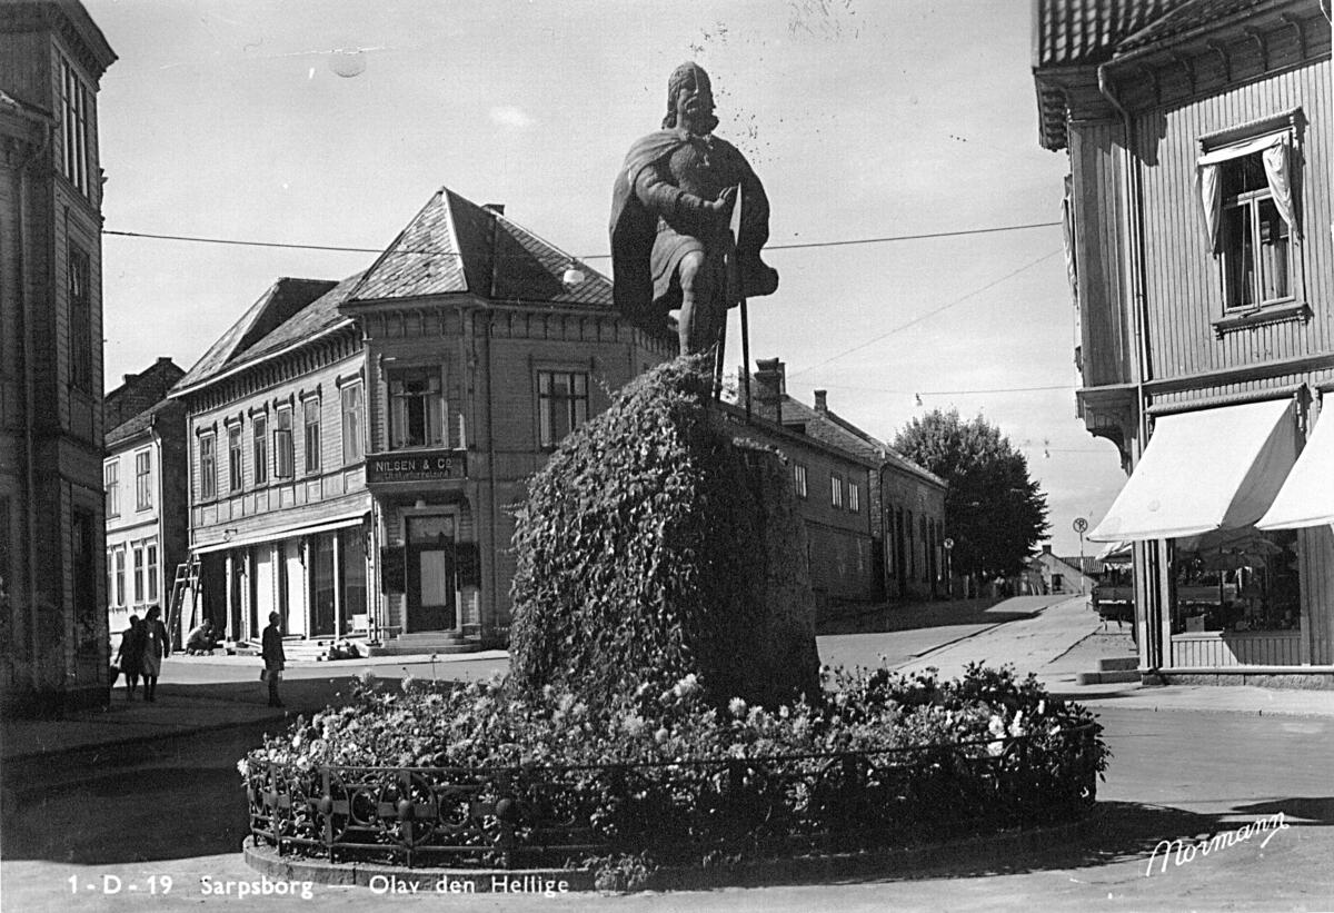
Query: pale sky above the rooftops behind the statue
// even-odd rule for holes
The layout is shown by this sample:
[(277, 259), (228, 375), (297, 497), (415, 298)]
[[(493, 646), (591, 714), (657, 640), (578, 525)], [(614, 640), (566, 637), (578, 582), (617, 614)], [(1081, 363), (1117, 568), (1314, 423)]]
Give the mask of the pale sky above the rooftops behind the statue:
[[(612, 179), (684, 60), (764, 183), (771, 247), (1059, 219), (1069, 164), (1038, 143), (1014, 0), (84, 4), (120, 57), (99, 96), (108, 232), (383, 250), (450, 187), (610, 274)], [(120, 235), (103, 256), (108, 390), (159, 356), (189, 368), (279, 276), (375, 259)], [(1075, 415), (1058, 227), (766, 260), (780, 284), (748, 303), (751, 356), (783, 359), (792, 396), (827, 390), (884, 440), (932, 408), (980, 414), (1026, 454), (1055, 551), (1079, 553), (1074, 519), (1101, 521), (1125, 477)]]

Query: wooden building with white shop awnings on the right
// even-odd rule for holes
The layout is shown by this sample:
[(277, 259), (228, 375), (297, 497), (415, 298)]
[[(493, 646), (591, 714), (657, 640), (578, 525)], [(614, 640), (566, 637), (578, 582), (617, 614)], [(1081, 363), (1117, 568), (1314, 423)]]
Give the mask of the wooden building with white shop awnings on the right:
[(1070, 162), (1079, 414), (1130, 474), (1090, 538), (1135, 543), (1141, 671), (1329, 686), (1330, 5), (1034, 9), (1041, 141)]

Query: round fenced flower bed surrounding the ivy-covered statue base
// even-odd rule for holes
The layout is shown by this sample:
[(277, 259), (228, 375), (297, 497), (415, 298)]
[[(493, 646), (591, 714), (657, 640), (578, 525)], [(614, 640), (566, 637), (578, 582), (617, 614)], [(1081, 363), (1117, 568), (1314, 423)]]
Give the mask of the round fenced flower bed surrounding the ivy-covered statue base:
[(687, 675), (594, 713), (551, 687), (368, 682), (239, 768), (252, 834), (280, 852), (616, 872), (1067, 821), (1106, 768), (1091, 714), (1033, 677), (859, 670), (826, 689), (712, 707)]

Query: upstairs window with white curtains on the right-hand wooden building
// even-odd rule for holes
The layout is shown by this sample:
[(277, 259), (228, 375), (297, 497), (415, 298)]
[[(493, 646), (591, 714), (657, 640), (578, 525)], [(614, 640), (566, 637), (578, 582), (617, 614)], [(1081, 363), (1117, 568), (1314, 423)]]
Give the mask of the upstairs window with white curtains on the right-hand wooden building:
[(1207, 151), (1197, 166), (1206, 240), (1218, 260), (1226, 311), (1295, 299), (1299, 238), (1293, 194), (1293, 131)]

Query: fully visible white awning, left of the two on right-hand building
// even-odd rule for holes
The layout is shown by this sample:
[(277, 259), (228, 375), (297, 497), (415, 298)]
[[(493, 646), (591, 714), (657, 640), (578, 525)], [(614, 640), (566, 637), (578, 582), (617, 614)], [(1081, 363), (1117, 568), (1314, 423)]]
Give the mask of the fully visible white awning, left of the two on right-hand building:
[(1297, 459), (1293, 400), (1165, 415), (1094, 542), (1174, 539), (1258, 521)]

